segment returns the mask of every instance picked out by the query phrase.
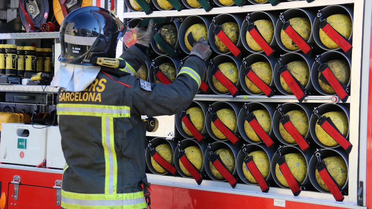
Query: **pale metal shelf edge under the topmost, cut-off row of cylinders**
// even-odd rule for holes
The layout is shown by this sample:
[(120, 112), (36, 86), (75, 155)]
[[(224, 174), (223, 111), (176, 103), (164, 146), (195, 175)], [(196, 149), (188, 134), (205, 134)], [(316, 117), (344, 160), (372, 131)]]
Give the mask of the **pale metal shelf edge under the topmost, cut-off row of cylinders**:
[(166, 11), (154, 11), (150, 15), (146, 15), (145, 12), (124, 12), (124, 18), (144, 18), (144, 17), (165, 17), (165, 16), (190, 16), (190, 15), (219, 15), (222, 13), (248, 13), (256, 11), (271, 11), (271, 10), (287, 10), (291, 8), (307, 8), (307, 7), (321, 7), (328, 6), (331, 4), (350, 4), (354, 3), (354, 0), (315, 0), (311, 3), (307, 1), (291, 1), (282, 2), (276, 6), (271, 4), (256, 4), (247, 6), (232, 6), (232, 7), (215, 7), (209, 12), (205, 12), (204, 9), (183, 9), (180, 12), (177, 10), (166, 10)]

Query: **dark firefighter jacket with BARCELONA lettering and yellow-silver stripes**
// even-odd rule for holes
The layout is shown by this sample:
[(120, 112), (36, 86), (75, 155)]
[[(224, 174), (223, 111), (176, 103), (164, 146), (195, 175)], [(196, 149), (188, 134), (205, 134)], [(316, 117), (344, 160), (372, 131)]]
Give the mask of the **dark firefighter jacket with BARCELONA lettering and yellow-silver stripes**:
[[(134, 71), (147, 59), (134, 45), (121, 58)], [(198, 57), (183, 66), (168, 85), (102, 69), (87, 89), (60, 90), (57, 114), (66, 160), (62, 208), (147, 208), (141, 187), (147, 183), (141, 115), (173, 115), (190, 105), (206, 67)]]

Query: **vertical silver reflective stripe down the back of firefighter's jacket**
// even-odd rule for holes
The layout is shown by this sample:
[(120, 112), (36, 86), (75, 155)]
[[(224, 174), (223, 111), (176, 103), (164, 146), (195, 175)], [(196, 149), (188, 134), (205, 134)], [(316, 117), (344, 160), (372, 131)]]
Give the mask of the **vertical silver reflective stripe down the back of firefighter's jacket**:
[[(114, 182), (114, 161), (113, 161), (113, 151), (115, 150), (111, 149), (111, 133), (110, 131), (110, 118), (105, 117), (105, 129), (106, 129), (106, 149), (108, 151), (108, 157), (109, 157), (109, 194), (113, 193), (113, 182)], [(113, 140), (113, 138), (112, 138)]]

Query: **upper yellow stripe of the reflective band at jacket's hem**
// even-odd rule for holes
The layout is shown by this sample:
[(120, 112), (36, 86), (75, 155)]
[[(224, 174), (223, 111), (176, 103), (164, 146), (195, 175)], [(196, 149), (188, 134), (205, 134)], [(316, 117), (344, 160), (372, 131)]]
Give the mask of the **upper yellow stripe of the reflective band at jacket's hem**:
[(61, 190), (61, 196), (80, 200), (121, 200), (137, 199), (144, 197), (143, 192), (121, 193), (121, 194), (83, 194)]

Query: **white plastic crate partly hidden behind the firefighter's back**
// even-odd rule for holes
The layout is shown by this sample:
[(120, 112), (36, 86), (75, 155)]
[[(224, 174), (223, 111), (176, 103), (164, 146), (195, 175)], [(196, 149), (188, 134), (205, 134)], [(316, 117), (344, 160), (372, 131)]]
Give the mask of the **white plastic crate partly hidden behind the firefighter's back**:
[(63, 168), (66, 161), (61, 146), (61, 134), (58, 126), (48, 127), (47, 167)]

